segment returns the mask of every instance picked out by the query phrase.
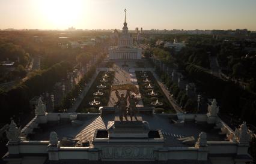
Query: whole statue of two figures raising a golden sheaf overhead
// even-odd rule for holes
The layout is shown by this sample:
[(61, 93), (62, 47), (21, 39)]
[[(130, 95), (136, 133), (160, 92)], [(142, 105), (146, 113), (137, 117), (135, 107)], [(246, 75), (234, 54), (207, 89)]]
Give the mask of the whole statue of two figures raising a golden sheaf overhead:
[[(120, 84), (117, 86), (112, 86), (111, 90), (115, 90), (115, 95), (118, 98), (118, 115), (120, 121), (124, 119), (127, 121), (127, 101), (129, 101), (129, 115), (132, 121), (132, 117), (135, 117), (135, 120), (138, 120), (136, 114), (138, 114), (138, 109), (136, 108), (137, 100), (134, 95), (130, 95), (130, 92), (134, 92), (136, 95), (139, 94), (138, 88), (133, 84)], [(126, 96), (124, 94), (119, 95), (117, 90), (126, 90)]]

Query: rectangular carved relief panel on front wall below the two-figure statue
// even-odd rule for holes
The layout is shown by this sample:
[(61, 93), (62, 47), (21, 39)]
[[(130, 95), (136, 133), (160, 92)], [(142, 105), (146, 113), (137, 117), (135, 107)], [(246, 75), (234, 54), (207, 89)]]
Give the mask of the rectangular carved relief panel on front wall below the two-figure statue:
[(102, 159), (154, 159), (153, 147), (103, 147)]

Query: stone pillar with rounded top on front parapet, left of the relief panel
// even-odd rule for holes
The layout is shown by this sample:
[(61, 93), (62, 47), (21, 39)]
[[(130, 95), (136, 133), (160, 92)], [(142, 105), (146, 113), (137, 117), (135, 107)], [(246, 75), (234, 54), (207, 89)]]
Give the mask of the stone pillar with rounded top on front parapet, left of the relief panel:
[(48, 145), (49, 160), (59, 160), (58, 154), (58, 135), (56, 132), (50, 132), (50, 140)]

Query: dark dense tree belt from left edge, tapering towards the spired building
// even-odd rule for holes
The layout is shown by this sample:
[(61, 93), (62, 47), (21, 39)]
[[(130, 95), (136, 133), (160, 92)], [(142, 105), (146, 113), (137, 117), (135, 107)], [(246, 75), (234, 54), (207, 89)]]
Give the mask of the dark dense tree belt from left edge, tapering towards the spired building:
[(69, 63), (61, 62), (44, 71), (34, 72), (28, 79), (10, 90), (0, 93), (1, 122), (8, 123), (11, 116), (31, 112), (29, 100), (52, 89), (53, 85), (64, 78)]

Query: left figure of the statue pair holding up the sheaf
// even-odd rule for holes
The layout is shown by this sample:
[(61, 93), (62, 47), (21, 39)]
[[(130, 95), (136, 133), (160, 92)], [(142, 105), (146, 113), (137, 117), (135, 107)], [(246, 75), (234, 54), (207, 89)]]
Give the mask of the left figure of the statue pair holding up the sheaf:
[(127, 110), (126, 110), (126, 106), (127, 106), (127, 98), (128, 96), (130, 96), (130, 92), (129, 90), (127, 90), (126, 92), (126, 96), (124, 97), (124, 94), (121, 94), (121, 96), (119, 96), (118, 94), (118, 91), (115, 90), (115, 95), (117, 96), (118, 98), (118, 106), (119, 106), (119, 110), (118, 110), (118, 113), (119, 113), (119, 118), (120, 118), (120, 121), (122, 122), (123, 121), (123, 117), (126, 119), (127, 121)]

